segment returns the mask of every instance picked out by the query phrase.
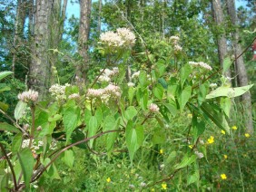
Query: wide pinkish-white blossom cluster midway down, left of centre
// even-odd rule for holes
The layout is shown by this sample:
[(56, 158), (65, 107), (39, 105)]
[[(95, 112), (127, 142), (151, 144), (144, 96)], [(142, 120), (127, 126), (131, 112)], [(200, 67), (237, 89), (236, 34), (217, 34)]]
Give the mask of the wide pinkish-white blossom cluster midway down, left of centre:
[(109, 84), (103, 89), (88, 89), (87, 97), (94, 99), (100, 98), (103, 102), (107, 103), (110, 99), (119, 99), (122, 91), (120, 87)]

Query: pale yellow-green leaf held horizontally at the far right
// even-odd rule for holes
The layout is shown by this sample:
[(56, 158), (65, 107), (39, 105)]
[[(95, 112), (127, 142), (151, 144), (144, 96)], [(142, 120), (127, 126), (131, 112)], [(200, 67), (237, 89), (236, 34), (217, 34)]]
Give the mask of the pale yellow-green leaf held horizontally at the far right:
[(238, 97), (244, 94), (245, 92), (249, 91), (253, 84), (243, 86), (243, 87), (236, 87), (236, 88), (229, 88), (229, 87), (219, 87), (216, 90), (211, 91), (208, 95), (206, 95), (206, 99), (212, 99), (216, 97)]

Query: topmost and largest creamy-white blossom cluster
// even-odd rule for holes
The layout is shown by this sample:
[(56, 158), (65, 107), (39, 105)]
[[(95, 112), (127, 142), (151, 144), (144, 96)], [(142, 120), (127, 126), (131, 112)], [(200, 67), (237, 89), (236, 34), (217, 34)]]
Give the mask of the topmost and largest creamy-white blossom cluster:
[(135, 35), (127, 28), (118, 28), (116, 33), (109, 31), (100, 35), (100, 42), (112, 47), (121, 47), (123, 45), (133, 46)]

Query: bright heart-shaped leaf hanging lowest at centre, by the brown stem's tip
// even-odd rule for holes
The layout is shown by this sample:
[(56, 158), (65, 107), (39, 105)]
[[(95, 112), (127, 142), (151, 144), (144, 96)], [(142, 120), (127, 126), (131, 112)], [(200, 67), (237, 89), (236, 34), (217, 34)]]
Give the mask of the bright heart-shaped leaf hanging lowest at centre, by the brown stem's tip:
[(133, 156), (136, 150), (143, 144), (143, 139), (143, 126), (136, 125), (136, 127), (134, 127), (133, 121), (129, 120), (125, 130), (125, 140), (131, 161), (133, 161)]

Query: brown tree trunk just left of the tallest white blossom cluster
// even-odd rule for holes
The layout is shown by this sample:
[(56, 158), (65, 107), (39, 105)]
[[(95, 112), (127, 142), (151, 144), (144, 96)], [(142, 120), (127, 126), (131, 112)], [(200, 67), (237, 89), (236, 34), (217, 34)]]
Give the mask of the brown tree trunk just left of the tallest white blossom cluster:
[(88, 40), (90, 33), (91, 0), (80, 0), (80, 24), (79, 24), (79, 54), (82, 62), (76, 66), (76, 81), (84, 82), (87, 80), (89, 68)]

